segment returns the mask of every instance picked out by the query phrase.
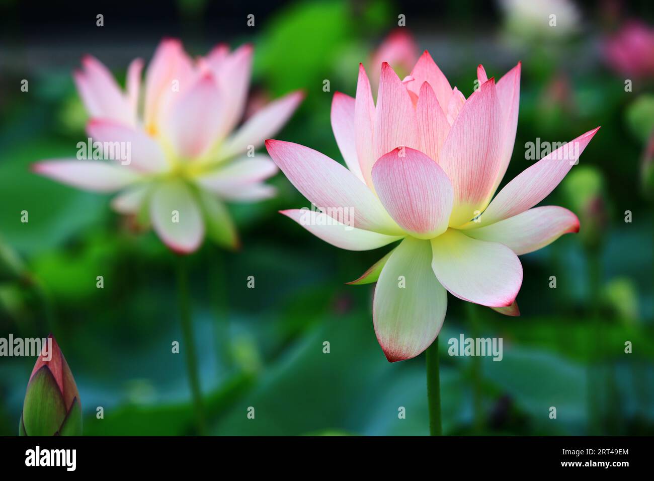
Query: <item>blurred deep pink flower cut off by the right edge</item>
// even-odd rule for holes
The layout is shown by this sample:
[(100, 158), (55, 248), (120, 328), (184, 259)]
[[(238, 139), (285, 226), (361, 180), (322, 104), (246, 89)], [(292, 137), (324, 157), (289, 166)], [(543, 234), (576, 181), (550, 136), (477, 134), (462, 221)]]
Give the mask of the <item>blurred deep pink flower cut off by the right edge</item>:
[(654, 28), (628, 22), (604, 41), (604, 56), (620, 75), (654, 77)]

